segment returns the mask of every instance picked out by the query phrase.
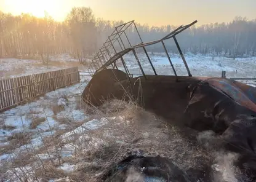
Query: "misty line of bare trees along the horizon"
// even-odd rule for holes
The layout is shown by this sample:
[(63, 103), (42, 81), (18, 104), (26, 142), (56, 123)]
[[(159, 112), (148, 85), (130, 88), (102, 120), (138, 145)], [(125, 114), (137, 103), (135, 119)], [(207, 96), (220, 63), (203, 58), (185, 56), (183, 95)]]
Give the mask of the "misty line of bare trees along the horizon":
[[(0, 57), (40, 55), (42, 61), (47, 63), (51, 54), (70, 53), (82, 60), (87, 55), (93, 55), (114, 27), (122, 23), (95, 18), (88, 7), (74, 7), (63, 22), (55, 21), (47, 12), (44, 18), (0, 12)], [(177, 28), (174, 25), (136, 25), (143, 42), (160, 39)], [(135, 28), (128, 30), (127, 36), (131, 41), (138, 40)], [(228, 23), (191, 26), (178, 34), (177, 39), (184, 52), (214, 53), (233, 58), (255, 56), (256, 19), (235, 17)], [(166, 47), (170, 52), (177, 52), (172, 40), (166, 41)], [(164, 51), (161, 44), (147, 49), (151, 52)]]

